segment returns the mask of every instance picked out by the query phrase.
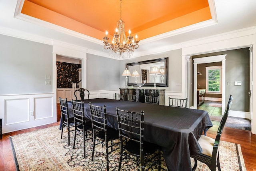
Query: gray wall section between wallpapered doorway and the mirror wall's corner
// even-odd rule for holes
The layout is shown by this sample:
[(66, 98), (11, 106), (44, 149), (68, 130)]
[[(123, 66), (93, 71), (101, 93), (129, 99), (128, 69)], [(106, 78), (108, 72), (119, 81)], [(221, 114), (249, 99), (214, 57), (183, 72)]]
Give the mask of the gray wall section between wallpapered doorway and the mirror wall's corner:
[(120, 88), (120, 61), (87, 54), (87, 89), (111, 90)]

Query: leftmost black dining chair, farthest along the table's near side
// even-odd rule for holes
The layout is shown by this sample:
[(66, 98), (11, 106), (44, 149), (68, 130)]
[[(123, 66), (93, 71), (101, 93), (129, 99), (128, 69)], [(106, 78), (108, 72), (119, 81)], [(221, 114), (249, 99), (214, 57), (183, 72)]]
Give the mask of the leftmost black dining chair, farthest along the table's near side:
[(60, 113), (61, 113), (61, 136), (60, 139), (62, 139), (63, 129), (64, 127), (67, 127), (68, 129), (68, 145), (70, 145), (70, 127), (75, 126), (74, 117), (69, 117), (68, 115), (68, 100), (60, 98)]

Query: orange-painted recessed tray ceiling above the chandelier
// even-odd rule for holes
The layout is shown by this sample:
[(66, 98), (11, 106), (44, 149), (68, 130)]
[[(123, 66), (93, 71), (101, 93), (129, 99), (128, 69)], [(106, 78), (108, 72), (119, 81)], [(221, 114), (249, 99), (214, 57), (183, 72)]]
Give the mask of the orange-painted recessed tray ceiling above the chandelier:
[[(113, 35), (120, 0), (25, 0), (23, 14), (102, 40)], [(208, 0), (122, 0), (126, 32), (145, 39), (210, 20)]]

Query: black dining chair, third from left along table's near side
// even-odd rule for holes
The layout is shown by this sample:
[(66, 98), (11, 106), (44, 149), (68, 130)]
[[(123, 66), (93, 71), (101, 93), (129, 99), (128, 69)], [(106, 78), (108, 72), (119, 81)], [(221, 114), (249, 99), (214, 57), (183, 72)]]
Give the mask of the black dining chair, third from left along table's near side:
[[(102, 147), (106, 148), (106, 163), (107, 163), (107, 171), (109, 170), (108, 166), (108, 154), (112, 153), (119, 149), (120, 145), (114, 143), (114, 139), (119, 139), (118, 130), (113, 129), (107, 125), (107, 114), (106, 114), (106, 105), (97, 106), (89, 103), (90, 113), (91, 113), (91, 121), (92, 121), (92, 139), (93, 139), (93, 148), (92, 148), (92, 161), (94, 158), (94, 150), (95, 146), (101, 144)], [(97, 133), (96, 133), (97, 132)], [(108, 142), (110, 141), (110, 145)], [(105, 143), (104, 143), (105, 142)], [(116, 145), (118, 147), (113, 149), (113, 146)], [(110, 151), (108, 149), (111, 148)]]

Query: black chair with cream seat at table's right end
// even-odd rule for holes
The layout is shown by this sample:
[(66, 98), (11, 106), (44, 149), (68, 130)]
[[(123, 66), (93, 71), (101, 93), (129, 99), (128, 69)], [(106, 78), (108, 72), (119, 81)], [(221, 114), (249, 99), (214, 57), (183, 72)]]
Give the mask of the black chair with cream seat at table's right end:
[(228, 113), (232, 104), (233, 97), (230, 95), (228, 100), (228, 105), (225, 109), (224, 115), (220, 121), (220, 125), (218, 127), (217, 135), (215, 139), (207, 137), (205, 135), (201, 135), (201, 137), (198, 140), (198, 143), (200, 144), (202, 148), (202, 153), (191, 156), (194, 158), (194, 167), (192, 170), (196, 170), (197, 166), (197, 160), (201, 161), (202, 163), (205, 163), (211, 171), (216, 170), (216, 165), (218, 167), (218, 170), (220, 171), (220, 158), (219, 158), (219, 145), (220, 145), (220, 136), (222, 134), (224, 125), (226, 123), (226, 120), (228, 118)]

